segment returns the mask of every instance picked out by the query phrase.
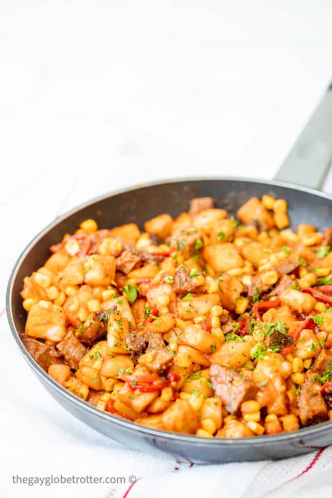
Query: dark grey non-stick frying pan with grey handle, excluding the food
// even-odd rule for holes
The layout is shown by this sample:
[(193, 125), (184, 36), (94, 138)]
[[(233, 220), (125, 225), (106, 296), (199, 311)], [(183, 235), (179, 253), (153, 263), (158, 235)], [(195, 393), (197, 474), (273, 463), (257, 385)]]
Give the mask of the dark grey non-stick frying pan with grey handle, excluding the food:
[[(331, 196), (313, 188), (322, 186), (332, 157), (332, 92), (328, 90), (311, 120), (276, 175), (275, 181), (238, 178), (190, 178), (167, 180), (113, 192), (70, 211), (48, 225), (19, 256), (7, 287), (7, 318), (17, 347), (48, 392), (74, 416), (97, 431), (128, 446), (145, 451), (153, 448), (196, 463), (221, 463), (280, 459), (308, 453), (332, 444), (332, 423), (302, 428), (297, 432), (243, 439), (199, 438), (135, 425), (107, 414), (71, 394), (55, 382), (25, 350), (19, 333), (24, 331), (26, 312), (19, 292), (23, 277), (43, 265), (48, 248), (72, 233), (82, 220), (94, 218), (100, 228), (128, 222), (143, 222), (160, 213), (173, 217), (188, 210), (193, 197), (212, 196), (216, 206), (232, 214), (250, 197), (272, 194), (287, 200), (292, 228), (308, 222), (319, 229), (331, 224)], [(302, 183), (297, 186), (287, 183)]]

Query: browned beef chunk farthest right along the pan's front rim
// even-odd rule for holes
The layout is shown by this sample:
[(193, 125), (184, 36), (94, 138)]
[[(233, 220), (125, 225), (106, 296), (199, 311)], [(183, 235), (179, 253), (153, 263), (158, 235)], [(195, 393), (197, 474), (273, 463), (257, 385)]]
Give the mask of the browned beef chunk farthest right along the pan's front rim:
[(321, 385), (310, 373), (302, 384), (299, 396), (299, 415), (302, 425), (313, 425), (328, 418), (328, 407), (321, 393)]

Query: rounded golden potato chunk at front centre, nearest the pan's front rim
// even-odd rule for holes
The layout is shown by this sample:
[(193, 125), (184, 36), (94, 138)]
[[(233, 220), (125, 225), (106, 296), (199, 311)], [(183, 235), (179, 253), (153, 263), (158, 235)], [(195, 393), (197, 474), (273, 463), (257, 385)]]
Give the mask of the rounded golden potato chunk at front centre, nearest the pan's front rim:
[(200, 426), (198, 412), (184, 399), (177, 399), (162, 415), (162, 424), (167, 431), (193, 434)]

